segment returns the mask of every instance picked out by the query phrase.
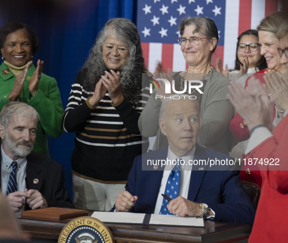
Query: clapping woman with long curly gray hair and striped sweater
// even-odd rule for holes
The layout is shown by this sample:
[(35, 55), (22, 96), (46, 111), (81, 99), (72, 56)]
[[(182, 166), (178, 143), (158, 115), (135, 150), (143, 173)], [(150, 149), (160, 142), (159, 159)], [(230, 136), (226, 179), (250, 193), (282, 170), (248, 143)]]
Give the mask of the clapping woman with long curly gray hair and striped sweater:
[(141, 153), (142, 73), (136, 26), (128, 19), (110, 19), (72, 85), (62, 119), (66, 132), (76, 132), (72, 169), (78, 208), (110, 210), (124, 189)]

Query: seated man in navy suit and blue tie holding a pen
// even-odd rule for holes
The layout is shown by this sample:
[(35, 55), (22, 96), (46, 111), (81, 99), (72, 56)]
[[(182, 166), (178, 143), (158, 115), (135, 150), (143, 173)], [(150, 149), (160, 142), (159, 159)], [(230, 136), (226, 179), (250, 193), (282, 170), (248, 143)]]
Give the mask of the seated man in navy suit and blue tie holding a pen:
[[(134, 159), (126, 190), (117, 196), (116, 210), (159, 214), (164, 212), (164, 206), (167, 213), (183, 217), (253, 224), (255, 209), (241, 186), (239, 173), (224, 166), (221, 170), (210, 168), (208, 163), (231, 158), (196, 145), (200, 122), (198, 104), (188, 96), (173, 97), (163, 101), (159, 119), (169, 147)], [(180, 187), (176, 197), (170, 195), (172, 200), (165, 206), (161, 194), (170, 194), (167, 184), (175, 161), (180, 167)]]

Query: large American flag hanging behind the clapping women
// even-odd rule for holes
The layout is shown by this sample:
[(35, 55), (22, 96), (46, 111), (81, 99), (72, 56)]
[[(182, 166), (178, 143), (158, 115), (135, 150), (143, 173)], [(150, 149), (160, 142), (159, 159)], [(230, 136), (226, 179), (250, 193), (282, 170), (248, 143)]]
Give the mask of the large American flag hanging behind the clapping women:
[(187, 68), (176, 38), (178, 24), (186, 16), (209, 17), (218, 28), (219, 42), (212, 63), (220, 56), (234, 68), (237, 37), (256, 29), (267, 15), (280, 9), (278, 0), (138, 0), (137, 28), (145, 64), (154, 72), (157, 61), (174, 72)]

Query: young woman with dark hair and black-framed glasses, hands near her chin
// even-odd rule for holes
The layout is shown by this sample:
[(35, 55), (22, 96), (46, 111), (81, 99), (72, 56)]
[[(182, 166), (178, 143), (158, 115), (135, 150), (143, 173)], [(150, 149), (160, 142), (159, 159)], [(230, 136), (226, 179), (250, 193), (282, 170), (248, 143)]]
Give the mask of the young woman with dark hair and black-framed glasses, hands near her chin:
[(244, 31), (237, 38), (237, 49), (234, 70), (228, 70), (228, 65), (222, 69), (221, 57), (216, 60), (216, 69), (219, 73), (228, 77), (230, 80), (237, 81), (243, 87), (248, 76), (266, 69), (267, 63), (264, 56), (260, 54), (260, 44), (257, 30)]

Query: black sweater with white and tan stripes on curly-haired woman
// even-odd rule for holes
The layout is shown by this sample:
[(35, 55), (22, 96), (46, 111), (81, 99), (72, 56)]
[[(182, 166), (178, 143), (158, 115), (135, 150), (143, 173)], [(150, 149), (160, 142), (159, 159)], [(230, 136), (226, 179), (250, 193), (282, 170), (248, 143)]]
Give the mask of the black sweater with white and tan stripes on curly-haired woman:
[(112, 106), (106, 93), (97, 108), (91, 110), (86, 99), (93, 93), (83, 88), (83, 74), (79, 72), (63, 116), (64, 130), (76, 132), (72, 169), (77, 174), (90, 180), (127, 180), (134, 157), (142, 153), (145, 143), (137, 122), (149, 98), (148, 88), (142, 93), (137, 107), (125, 99)]

